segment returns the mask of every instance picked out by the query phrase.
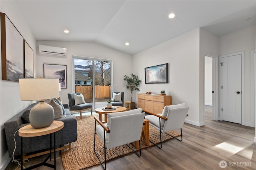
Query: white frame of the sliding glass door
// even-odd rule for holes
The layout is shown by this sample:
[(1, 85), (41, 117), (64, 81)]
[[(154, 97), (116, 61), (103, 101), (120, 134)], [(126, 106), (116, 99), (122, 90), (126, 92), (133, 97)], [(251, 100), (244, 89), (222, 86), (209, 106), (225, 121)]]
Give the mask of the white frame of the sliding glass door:
[(92, 109), (95, 110), (95, 66), (94, 66), (94, 61), (108, 61), (110, 62), (110, 98), (112, 98), (112, 92), (113, 92), (113, 61), (109, 59), (100, 59), (100, 58), (94, 58), (94, 57), (84, 57), (84, 56), (77, 56), (77, 55), (72, 55), (72, 93), (75, 92), (75, 63), (74, 59), (82, 59), (82, 60), (92, 60)]

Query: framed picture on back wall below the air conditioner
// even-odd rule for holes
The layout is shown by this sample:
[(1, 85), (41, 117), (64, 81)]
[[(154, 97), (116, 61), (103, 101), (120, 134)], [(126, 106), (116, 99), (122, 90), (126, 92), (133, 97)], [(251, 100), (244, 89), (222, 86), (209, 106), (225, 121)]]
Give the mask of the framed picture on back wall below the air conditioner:
[(44, 64), (44, 78), (58, 78), (61, 88), (67, 88), (67, 66)]

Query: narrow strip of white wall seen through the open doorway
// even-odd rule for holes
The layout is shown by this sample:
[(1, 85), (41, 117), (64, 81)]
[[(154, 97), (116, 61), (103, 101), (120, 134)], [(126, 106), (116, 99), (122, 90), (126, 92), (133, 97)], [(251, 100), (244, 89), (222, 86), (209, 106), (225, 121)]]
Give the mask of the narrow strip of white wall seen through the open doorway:
[(204, 61), (204, 104), (212, 106), (212, 57)]

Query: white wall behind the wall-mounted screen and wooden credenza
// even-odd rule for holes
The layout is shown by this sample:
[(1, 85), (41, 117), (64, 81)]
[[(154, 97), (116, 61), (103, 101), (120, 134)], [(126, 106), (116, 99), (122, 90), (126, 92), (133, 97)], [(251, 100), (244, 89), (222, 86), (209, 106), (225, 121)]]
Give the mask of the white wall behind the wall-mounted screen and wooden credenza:
[[(133, 73), (142, 80), (139, 93), (151, 91), (172, 96), (172, 104), (189, 106), (186, 122), (200, 126), (199, 31), (195, 29), (133, 56)], [(145, 84), (144, 68), (168, 63), (168, 84)]]

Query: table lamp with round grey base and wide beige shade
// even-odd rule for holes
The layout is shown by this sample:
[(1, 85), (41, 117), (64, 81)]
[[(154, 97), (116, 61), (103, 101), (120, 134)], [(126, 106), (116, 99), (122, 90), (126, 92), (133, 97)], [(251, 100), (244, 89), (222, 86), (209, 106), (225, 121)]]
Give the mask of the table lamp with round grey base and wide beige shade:
[(44, 101), (60, 97), (57, 78), (21, 78), (20, 100), (38, 100), (29, 113), (29, 122), (34, 128), (50, 126), (54, 121), (54, 109)]

